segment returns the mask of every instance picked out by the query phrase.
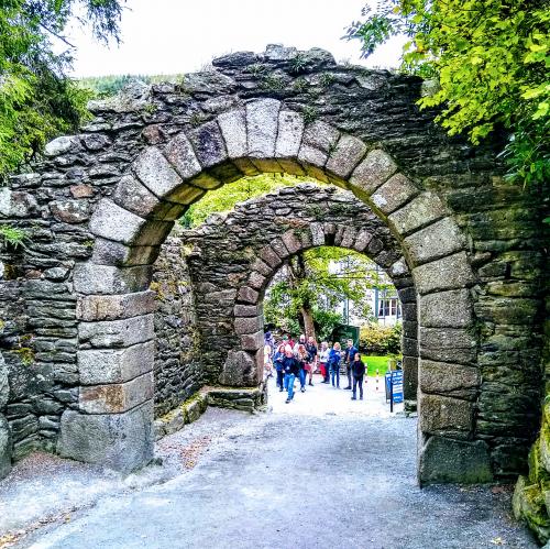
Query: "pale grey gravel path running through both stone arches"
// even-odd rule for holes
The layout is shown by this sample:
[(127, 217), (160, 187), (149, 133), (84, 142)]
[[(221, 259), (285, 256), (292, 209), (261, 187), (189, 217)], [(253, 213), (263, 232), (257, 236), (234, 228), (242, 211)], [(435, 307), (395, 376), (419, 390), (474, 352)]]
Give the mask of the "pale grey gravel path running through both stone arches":
[[(353, 403), (349, 392), (324, 385), (288, 405), (271, 394), (271, 414), (210, 408), (161, 441), (163, 466), (125, 481), (57, 460), (59, 469), (47, 473), (43, 488), (63, 490), (81, 510), (40, 528), (28, 524), (15, 546), (537, 547), (510, 517), (508, 487), (419, 490), (416, 420), (391, 416), (374, 388), (366, 400)], [(2, 504), (10, 498), (0, 517), (21, 502), (23, 486), (37, 482), (36, 474), (10, 477), (7, 490), (0, 485)]]

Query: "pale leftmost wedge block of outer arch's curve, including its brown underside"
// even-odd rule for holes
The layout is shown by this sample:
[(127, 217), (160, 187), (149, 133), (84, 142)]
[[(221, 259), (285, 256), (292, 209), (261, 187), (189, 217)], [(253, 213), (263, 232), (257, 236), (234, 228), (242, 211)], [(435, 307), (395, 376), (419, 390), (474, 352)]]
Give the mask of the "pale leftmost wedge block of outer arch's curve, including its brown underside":
[(97, 237), (133, 245), (157, 245), (173, 227), (172, 221), (147, 221), (109, 198), (101, 199), (90, 220), (90, 231)]

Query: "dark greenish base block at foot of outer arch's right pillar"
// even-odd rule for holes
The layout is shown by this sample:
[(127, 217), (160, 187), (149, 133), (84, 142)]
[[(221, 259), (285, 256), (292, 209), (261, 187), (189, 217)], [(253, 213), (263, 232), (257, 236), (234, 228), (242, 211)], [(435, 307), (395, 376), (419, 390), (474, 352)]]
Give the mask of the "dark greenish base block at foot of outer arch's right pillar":
[(418, 479), (420, 485), (491, 482), (493, 474), (488, 447), (482, 440), (470, 442), (430, 437), (420, 449)]

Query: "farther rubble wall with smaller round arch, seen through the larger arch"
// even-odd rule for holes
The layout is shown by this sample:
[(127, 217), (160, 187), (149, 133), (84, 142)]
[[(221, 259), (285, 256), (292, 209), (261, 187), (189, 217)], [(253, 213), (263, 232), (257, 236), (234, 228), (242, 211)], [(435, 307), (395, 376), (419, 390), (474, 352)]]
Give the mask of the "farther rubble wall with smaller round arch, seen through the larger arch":
[[(277, 216), (285, 211), (285, 216)], [(417, 309), (413, 278), (387, 227), (351, 193), (334, 187), (285, 187), (216, 216), (178, 237), (188, 249), (201, 348), (215, 372), (210, 383), (250, 386), (262, 381), (263, 297), (279, 267), (298, 252), (322, 245), (373, 259), (403, 303), (407, 398), (416, 399)], [(229, 320), (229, 321), (228, 321)]]

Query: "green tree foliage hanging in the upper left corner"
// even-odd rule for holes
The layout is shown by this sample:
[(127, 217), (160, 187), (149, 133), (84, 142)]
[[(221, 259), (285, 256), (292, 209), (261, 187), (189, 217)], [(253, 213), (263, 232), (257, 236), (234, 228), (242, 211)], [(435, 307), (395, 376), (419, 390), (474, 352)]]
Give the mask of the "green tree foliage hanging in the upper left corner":
[[(0, 178), (32, 160), (52, 138), (76, 131), (90, 92), (67, 76), (74, 47), (64, 37), (78, 20), (118, 40), (118, 0), (4, 0), (0, 8)], [(65, 52), (55, 48), (64, 45)]]

